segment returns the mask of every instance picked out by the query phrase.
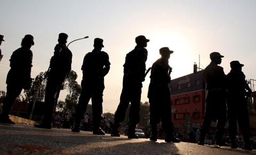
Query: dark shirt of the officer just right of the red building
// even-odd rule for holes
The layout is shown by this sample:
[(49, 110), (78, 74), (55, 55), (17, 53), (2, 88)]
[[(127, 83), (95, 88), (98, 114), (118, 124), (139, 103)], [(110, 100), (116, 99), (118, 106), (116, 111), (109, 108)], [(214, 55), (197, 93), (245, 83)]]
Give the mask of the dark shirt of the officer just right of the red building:
[(217, 63), (211, 62), (203, 71), (203, 76), (207, 84), (207, 89), (226, 90), (226, 75), (223, 68)]

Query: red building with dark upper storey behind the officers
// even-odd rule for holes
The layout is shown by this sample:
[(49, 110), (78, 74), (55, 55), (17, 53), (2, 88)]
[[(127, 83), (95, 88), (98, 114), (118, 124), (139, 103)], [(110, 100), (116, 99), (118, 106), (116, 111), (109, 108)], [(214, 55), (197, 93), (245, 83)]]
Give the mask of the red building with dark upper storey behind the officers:
[(177, 133), (200, 128), (205, 108), (203, 70), (171, 80), (172, 121)]

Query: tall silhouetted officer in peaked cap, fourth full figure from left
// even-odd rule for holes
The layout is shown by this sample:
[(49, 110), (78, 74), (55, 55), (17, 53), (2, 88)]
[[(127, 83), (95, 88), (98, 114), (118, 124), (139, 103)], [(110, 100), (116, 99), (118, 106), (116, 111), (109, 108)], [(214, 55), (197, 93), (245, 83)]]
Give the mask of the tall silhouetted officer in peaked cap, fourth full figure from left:
[(131, 102), (129, 119), (128, 138), (138, 138), (135, 134), (135, 127), (140, 121), (140, 98), (142, 81), (145, 80), (146, 61), (148, 57), (147, 43), (149, 39), (145, 36), (135, 38), (137, 46), (134, 50), (126, 54), (124, 63), (123, 89), (120, 97), (120, 103), (115, 113), (115, 121), (111, 136), (120, 136), (119, 126), (124, 118), (125, 112)]

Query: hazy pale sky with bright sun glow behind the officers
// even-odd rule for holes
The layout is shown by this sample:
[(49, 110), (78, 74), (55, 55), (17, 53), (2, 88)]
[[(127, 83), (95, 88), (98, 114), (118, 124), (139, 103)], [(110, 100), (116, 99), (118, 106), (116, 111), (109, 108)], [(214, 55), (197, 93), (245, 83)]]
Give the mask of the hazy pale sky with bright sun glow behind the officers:
[[(194, 62), (206, 67), (209, 54), (225, 56), (221, 66), (227, 74), (229, 62), (245, 64), (247, 79), (256, 79), (256, 1), (35, 1), (0, 0), (0, 34), (3, 60), (0, 62), (0, 89), (6, 89), (9, 59), (20, 47), (26, 34), (34, 36), (32, 78), (49, 67), (58, 34), (65, 32), (71, 40), (89, 36), (70, 44), (72, 69), (82, 80), (84, 55), (93, 50), (93, 39), (104, 39), (103, 51), (109, 54), (109, 74), (105, 77), (103, 112), (115, 112), (122, 91), (125, 55), (133, 50), (135, 37), (145, 35), (148, 43), (147, 68), (159, 58), (159, 48), (167, 46), (174, 53), (169, 64), (172, 79), (191, 74)], [(201, 66), (201, 67), (202, 67)], [(143, 82), (141, 102), (148, 101), (149, 76)], [(64, 100), (62, 91), (60, 100)]]

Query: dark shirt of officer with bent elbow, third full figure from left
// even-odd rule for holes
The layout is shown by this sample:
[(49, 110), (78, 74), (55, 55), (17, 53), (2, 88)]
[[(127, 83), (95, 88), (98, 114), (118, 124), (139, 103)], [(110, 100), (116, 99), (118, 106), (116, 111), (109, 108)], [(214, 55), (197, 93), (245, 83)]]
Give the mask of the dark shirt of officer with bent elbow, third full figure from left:
[(93, 50), (84, 56), (82, 65), (83, 79), (103, 83), (109, 71), (109, 57), (106, 52)]

